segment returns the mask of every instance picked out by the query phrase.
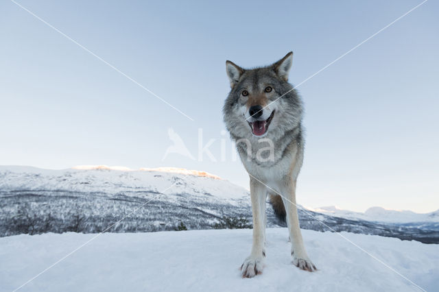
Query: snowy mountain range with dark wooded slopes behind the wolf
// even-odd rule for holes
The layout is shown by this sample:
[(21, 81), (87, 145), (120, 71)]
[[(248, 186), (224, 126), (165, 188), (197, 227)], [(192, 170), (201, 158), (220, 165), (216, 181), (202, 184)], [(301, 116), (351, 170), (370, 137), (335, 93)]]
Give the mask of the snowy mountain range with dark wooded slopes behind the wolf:
[[(386, 222), (300, 208), (304, 229), (439, 243), (438, 221)], [(270, 205), (267, 210), (268, 227), (285, 226)], [(248, 191), (202, 171), (0, 167), (0, 236), (250, 228), (251, 222)]]

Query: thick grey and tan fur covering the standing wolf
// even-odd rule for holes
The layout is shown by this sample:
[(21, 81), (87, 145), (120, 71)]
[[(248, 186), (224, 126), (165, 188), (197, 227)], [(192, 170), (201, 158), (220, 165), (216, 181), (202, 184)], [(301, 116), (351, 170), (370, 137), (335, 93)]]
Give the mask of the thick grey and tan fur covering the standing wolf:
[[(292, 52), (270, 66), (250, 70), (226, 62), (231, 90), (224, 104), (224, 122), (250, 175), (253, 245), (241, 267), (244, 277), (256, 276), (263, 268), (268, 193), (276, 215), (287, 221), (294, 265), (308, 271), (316, 269), (303, 245), (296, 208), (296, 180), (302, 167), (305, 142), (302, 102), (288, 83), (291, 65)], [(267, 86), (272, 90), (266, 89)], [(261, 116), (255, 118), (256, 114), (250, 114), (250, 106), (258, 105), (263, 110), (259, 111)], [(268, 127), (263, 128), (265, 132), (261, 135), (253, 132), (259, 123)], [(274, 146), (273, 151), (267, 150), (270, 145)], [(270, 153), (266, 154), (267, 151)]]

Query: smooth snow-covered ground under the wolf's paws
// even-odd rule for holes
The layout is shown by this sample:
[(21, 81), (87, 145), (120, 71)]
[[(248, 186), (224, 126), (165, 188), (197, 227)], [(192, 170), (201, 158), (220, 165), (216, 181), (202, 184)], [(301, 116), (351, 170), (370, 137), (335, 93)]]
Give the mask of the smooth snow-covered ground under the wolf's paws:
[[(294, 267), (285, 228), (267, 230), (263, 273), (242, 279), (252, 230), (106, 233), (20, 291), (420, 291), (339, 234), (302, 230), (315, 273)], [(438, 291), (439, 245), (351, 234), (349, 240), (427, 291)], [(96, 234), (0, 238), (0, 291), (12, 291)]]

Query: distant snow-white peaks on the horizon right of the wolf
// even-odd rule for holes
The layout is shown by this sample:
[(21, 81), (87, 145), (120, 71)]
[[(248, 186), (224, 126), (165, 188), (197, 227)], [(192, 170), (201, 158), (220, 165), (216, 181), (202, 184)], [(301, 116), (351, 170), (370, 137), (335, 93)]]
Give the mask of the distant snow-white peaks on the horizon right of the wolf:
[(388, 223), (439, 222), (439, 210), (429, 213), (416, 213), (410, 210), (389, 210), (382, 207), (370, 207), (366, 212), (342, 210), (336, 206), (309, 208), (314, 212), (346, 219), (361, 219)]

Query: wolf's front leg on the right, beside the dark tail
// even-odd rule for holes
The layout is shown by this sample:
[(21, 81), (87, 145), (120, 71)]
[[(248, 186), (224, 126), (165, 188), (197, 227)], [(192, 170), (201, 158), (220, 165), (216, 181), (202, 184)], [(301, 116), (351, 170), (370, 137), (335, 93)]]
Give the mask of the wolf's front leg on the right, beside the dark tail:
[(282, 200), (287, 211), (287, 225), (289, 239), (292, 243), (291, 254), (293, 264), (305, 271), (316, 271), (316, 266), (309, 259), (303, 244), (302, 232), (300, 232), (299, 218), (296, 206), (296, 181), (289, 180), (281, 187)]

